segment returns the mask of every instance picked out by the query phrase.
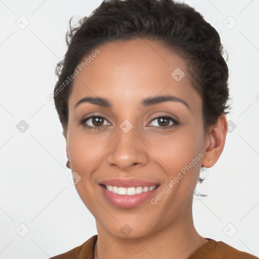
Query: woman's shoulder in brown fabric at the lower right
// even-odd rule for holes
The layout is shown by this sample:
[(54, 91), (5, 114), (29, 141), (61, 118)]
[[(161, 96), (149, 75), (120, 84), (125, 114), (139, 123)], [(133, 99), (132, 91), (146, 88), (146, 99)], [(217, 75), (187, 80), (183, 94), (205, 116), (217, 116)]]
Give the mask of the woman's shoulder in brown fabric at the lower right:
[(210, 239), (198, 250), (196, 250), (189, 259), (258, 259), (258, 257), (242, 252), (223, 241)]

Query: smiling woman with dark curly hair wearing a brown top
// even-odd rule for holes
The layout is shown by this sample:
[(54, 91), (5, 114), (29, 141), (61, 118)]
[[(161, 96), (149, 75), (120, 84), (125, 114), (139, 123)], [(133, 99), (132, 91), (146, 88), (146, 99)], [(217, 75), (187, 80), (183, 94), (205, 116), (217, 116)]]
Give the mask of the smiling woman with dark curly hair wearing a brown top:
[(193, 223), (200, 170), (228, 127), (218, 32), (171, 0), (105, 1), (70, 29), (54, 98), (98, 235), (52, 258), (256, 258)]

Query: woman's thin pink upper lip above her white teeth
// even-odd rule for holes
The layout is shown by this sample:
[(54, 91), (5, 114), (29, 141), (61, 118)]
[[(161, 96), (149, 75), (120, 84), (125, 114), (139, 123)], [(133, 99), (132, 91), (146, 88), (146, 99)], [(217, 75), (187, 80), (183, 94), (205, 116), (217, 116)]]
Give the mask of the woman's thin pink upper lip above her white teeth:
[(117, 186), (117, 187), (124, 187), (124, 188), (138, 187), (138, 186), (151, 187), (151, 186), (158, 185), (157, 183), (143, 181), (140, 179), (119, 179), (119, 178), (101, 181), (99, 184), (106, 185), (106, 186), (111, 185), (111, 186)]

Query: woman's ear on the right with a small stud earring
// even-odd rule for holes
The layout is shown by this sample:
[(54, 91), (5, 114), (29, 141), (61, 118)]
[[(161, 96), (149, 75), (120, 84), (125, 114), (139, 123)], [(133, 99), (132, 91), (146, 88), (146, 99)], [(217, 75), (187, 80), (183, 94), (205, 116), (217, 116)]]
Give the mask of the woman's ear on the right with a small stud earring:
[(202, 157), (204, 167), (211, 167), (220, 158), (225, 146), (227, 132), (228, 122), (226, 115), (223, 114), (219, 117), (217, 123), (209, 128), (206, 134)]

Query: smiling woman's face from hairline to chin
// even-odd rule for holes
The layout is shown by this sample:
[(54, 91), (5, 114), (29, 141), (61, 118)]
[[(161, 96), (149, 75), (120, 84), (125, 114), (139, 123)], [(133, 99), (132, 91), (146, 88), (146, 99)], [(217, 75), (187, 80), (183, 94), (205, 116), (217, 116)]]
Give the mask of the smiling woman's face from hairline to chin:
[(77, 69), (68, 101), (65, 138), (76, 190), (97, 229), (113, 236), (184, 224), (207, 147), (187, 63), (147, 39), (98, 50)]

